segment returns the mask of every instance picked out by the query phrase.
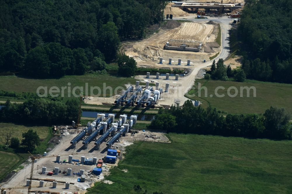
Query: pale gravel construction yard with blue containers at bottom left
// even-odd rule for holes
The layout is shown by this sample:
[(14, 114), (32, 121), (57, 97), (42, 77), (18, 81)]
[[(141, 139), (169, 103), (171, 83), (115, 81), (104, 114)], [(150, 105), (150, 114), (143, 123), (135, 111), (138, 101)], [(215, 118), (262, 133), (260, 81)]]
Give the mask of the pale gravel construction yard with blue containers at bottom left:
[[(121, 137), (118, 142), (113, 144), (112, 149), (117, 149), (121, 151), (121, 154), (118, 156), (117, 162), (115, 164), (103, 163), (102, 164), (102, 173), (100, 175), (94, 175), (91, 173), (95, 165), (83, 165), (78, 162), (68, 163), (68, 155), (72, 155), (73, 159), (79, 159), (81, 156), (85, 156), (85, 158), (93, 158), (96, 157), (98, 160), (102, 159), (107, 155), (108, 146), (106, 146), (105, 142), (100, 144), (100, 149), (95, 149), (95, 144), (91, 142), (88, 145), (88, 149), (84, 149), (84, 144), (82, 141), (78, 142), (76, 145), (76, 149), (72, 149), (72, 144), (70, 144), (70, 140), (74, 138), (78, 133), (70, 134), (70, 132), (74, 132), (75, 129), (68, 128), (68, 133), (66, 133), (63, 137), (55, 138), (56, 142), (59, 142), (50, 152), (47, 153), (47, 158), (37, 159), (36, 163), (34, 163), (34, 172), (33, 179), (48, 179), (50, 181), (62, 181), (69, 182), (69, 189), (65, 189), (65, 183), (57, 183), (56, 188), (53, 188), (53, 183), (49, 181), (44, 182), (43, 187), (39, 187), (38, 180), (32, 180), (32, 191), (53, 191), (59, 193), (74, 193), (78, 191), (79, 193), (86, 193), (86, 189), (92, 187), (93, 184), (97, 181), (104, 181), (107, 183), (107, 180), (104, 179), (107, 175), (109, 175), (109, 170), (111, 167), (116, 166), (119, 160), (123, 158), (123, 154), (125, 153), (125, 147), (131, 145), (135, 140), (140, 141), (150, 141), (150, 142), (165, 142), (170, 143), (165, 133), (160, 132), (150, 132), (150, 131), (136, 131), (138, 133), (131, 134), (126, 133), (124, 137)], [(56, 156), (60, 155), (60, 163), (55, 162)], [(62, 156), (66, 155), (66, 156)], [(66, 160), (66, 162), (62, 162)], [(53, 173), (51, 176), (47, 176), (47, 172), (42, 174), (42, 168), (46, 167), (46, 171), (50, 172), (58, 167), (60, 173)], [(67, 172), (68, 168), (72, 169), (72, 174), (67, 175), (67, 173), (62, 173), (64, 170)], [(81, 175), (77, 175), (75, 173), (80, 172), (80, 170), (84, 170), (85, 182), (78, 182), (77, 179), (81, 178)], [(25, 167), (16, 173), (13, 177), (11, 177), (8, 181), (1, 184), (1, 188), (6, 189), (6, 193), (18, 194), (18, 193), (27, 193), (27, 179), (29, 179), (31, 170), (31, 160), (29, 159), (25, 163)], [(73, 174), (74, 173), (74, 174)], [(110, 184), (110, 183), (109, 183)], [(13, 189), (10, 189), (13, 188)]]

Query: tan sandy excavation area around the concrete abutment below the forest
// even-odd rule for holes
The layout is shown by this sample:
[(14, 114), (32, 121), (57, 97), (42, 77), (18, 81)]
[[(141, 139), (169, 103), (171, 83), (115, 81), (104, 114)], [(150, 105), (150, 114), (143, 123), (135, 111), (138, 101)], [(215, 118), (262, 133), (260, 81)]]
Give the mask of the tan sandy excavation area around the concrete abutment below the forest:
[(170, 20), (159, 29), (158, 33), (154, 33), (145, 40), (123, 43), (122, 51), (133, 57), (140, 67), (169, 67), (166, 64), (158, 64), (159, 57), (165, 58), (164, 60), (172, 58), (174, 61), (178, 61), (178, 59), (202, 61), (203, 59), (208, 60), (220, 49), (212, 49), (207, 46), (208, 48), (201, 52), (164, 50), (166, 42), (190, 44), (191, 41), (196, 41), (197, 45), (203, 43), (205, 48), (207, 43), (215, 43), (217, 34), (218, 26), (215, 22), (185, 22), (181, 24), (175, 20)]

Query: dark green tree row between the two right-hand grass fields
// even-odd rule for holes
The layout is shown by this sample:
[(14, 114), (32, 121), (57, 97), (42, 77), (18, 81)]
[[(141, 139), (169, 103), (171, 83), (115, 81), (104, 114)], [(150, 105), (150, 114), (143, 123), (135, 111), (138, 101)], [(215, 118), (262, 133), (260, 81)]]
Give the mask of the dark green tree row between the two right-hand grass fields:
[(284, 108), (270, 107), (263, 115), (220, 115), (216, 108), (194, 107), (191, 100), (170, 110), (160, 109), (152, 127), (175, 133), (196, 133), (249, 138), (289, 139), (291, 115)]

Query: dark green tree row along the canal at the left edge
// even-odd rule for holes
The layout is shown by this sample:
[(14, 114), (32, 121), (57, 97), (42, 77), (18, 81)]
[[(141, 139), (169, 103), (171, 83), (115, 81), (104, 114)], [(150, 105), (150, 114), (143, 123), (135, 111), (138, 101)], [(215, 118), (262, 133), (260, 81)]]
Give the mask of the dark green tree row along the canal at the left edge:
[(76, 99), (66, 103), (59, 98), (29, 98), (23, 104), (10, 103), (7, 100), (0, 109), (0, 122), (21, 124), (68, 124), (77, 121), (79, 102)]

